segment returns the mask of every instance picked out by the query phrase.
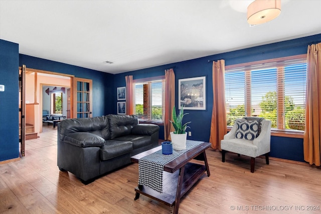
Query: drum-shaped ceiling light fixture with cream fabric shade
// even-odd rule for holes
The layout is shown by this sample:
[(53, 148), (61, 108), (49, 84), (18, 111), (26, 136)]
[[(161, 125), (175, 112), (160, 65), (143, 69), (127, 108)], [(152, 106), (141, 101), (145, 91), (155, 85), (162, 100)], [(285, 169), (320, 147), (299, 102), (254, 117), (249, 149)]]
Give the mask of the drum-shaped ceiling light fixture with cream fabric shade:
[(247, 7), (247, 22), (259, 25), (269, 22), (281, 13), (281, 0), (255, 0)]

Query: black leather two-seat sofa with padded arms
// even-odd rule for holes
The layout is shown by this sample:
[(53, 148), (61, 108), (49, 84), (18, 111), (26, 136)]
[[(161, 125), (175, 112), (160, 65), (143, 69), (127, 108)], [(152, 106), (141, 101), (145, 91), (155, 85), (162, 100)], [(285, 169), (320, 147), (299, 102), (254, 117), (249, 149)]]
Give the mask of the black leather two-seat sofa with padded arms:
[(57, 165), (89, 183), (130, 163), (130, 156), (158, 146), (159, 127), (137, 116), (67, 119), (58, 124)]

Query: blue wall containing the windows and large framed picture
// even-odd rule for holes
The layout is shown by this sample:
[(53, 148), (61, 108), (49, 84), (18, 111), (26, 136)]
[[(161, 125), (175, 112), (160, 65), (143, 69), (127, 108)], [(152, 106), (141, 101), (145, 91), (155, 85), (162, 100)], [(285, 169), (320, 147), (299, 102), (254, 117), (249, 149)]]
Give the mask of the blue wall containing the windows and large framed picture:
[[(125, 86), (125, 76), (133, 75), (133, 79), (146, 78), (152, 76), (165, 75), (165, 69), (174, 68), (176, 79), (176, 108), (178, 108), (178, 80), (183, 78), (192, 78), (206, 76), (206, 110), (193, 111), (185, 110), (189, 115), (186, 116), (186, 121), (192, 121), (190, 131), (192, 136), (188, 137), (191, 140), (209, 141), (210, 126), (212, 117), (213, 104), (213, 84), (212, 84), (212, 61), (224, 59), (225, 65), (233, 65), (251, 61), (273, 59), (278, 57), (286, 57), (298, 54), (306, 54), (307, 46), (310, 43), (320, 42), (321, 34), (299, 39), (277, 42), (268, 45), (257, 46), (253, 48), (232, 51), (198, 59), (173, 63), (169, 65), (157, 66), (147, 69), (131, 71), (122, 74), (116, 74), (114, 77), (114, 86)], [(210, 61), (210, 62), (209, 62)], [(114, 100), (116, 103), (116, 100)], [(116, 106), (116, 104), (115, 104)], [(114, 107), (116, 113), (116, 107)], [(164, 127), (161, 127), (162, 133), (159, 134), (161, 139), (164, 139)], [(303, 160), (303, 139), (271, 137), (271, 153), (272, 157), (284, 158), (289, 160)]]

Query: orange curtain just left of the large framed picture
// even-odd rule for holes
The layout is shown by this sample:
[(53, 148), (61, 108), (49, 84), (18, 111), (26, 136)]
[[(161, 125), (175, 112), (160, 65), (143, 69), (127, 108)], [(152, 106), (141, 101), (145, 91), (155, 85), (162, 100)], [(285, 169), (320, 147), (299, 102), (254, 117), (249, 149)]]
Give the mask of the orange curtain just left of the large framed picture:
[(173, 68), (165, 70), (165, 118), (164, 139), (171, 140), (170, 133), (174, 131), (170, 121), (173, 121), (172, 111), (175, 105), (175, 74)]

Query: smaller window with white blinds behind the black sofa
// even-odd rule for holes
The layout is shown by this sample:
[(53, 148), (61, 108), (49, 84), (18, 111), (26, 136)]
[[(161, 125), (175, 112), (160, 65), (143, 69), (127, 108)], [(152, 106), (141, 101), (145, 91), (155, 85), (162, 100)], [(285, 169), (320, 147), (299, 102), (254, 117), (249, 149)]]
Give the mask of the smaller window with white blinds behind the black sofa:
[(139, 120), (164, 122), (165, 79), (154, 81), (136, 80), (135, 114)]

